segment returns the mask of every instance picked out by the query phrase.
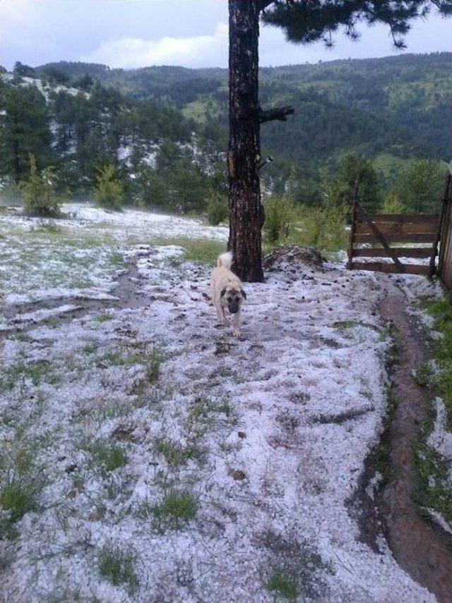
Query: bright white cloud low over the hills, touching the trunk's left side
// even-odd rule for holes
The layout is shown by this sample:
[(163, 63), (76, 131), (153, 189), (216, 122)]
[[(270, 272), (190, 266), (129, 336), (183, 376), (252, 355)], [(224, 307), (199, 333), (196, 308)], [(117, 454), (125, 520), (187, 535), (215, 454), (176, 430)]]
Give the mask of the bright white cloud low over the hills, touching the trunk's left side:
[(218, 23), (212, 35), (140, 39), (121, 37), (102, 42), (81, 57), (82, 61), (106, 63), (111, 67), (136, 68), (149, 65), (203, 67), (227, 64), (228, 28)]

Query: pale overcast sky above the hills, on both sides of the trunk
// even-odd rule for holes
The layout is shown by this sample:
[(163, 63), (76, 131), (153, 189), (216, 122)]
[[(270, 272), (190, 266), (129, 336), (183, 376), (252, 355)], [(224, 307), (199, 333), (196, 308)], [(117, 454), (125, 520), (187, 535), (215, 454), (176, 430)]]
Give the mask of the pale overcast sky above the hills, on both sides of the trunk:
[[(328, 50), (261, 29), (261, 65), (399, 54), (383, 27), (343, 35)], [(432, 14), (406, 37), (409, 52), (452, 50), (452, 20)], [(0, 64), (93, 61), (111, 67), (227, 66), (227, 0), (0, 0)]]

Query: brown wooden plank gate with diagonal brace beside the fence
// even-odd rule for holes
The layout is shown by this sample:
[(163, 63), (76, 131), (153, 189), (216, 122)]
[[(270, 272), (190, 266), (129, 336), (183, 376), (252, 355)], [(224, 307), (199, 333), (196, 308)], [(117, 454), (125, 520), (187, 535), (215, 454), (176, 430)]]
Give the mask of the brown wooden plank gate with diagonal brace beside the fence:
[[(452, 287), (451, 194), (449, 174), (439, 214), (368, 214), (355, 201), (347, 268), (432, 277), (437, 270), (436, 256), (441, 240), (438, 272)], [(404, 258), (429, 261), (404, 263)]]

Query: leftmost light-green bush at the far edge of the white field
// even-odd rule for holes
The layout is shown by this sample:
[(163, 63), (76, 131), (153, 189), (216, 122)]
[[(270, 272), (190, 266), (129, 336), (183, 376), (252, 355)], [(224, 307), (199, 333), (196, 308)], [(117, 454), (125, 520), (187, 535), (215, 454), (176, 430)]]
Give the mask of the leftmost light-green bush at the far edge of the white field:
[(54, 168), (49, 166), (38, 171), (36, 159), (30, 154), (30, 176), (18, 185), (27, 214), (42, 217), (59, 217), (61, 208), (55, 193)]

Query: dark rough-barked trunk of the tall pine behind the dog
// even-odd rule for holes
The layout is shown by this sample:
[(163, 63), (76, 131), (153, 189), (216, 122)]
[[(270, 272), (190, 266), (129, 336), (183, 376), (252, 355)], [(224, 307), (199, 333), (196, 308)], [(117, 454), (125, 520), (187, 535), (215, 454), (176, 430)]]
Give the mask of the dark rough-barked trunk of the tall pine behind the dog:
[(263, 281), (259, 184), (257, 0), (229, 0), (229, 248), (232, 269), (244, 281)]

